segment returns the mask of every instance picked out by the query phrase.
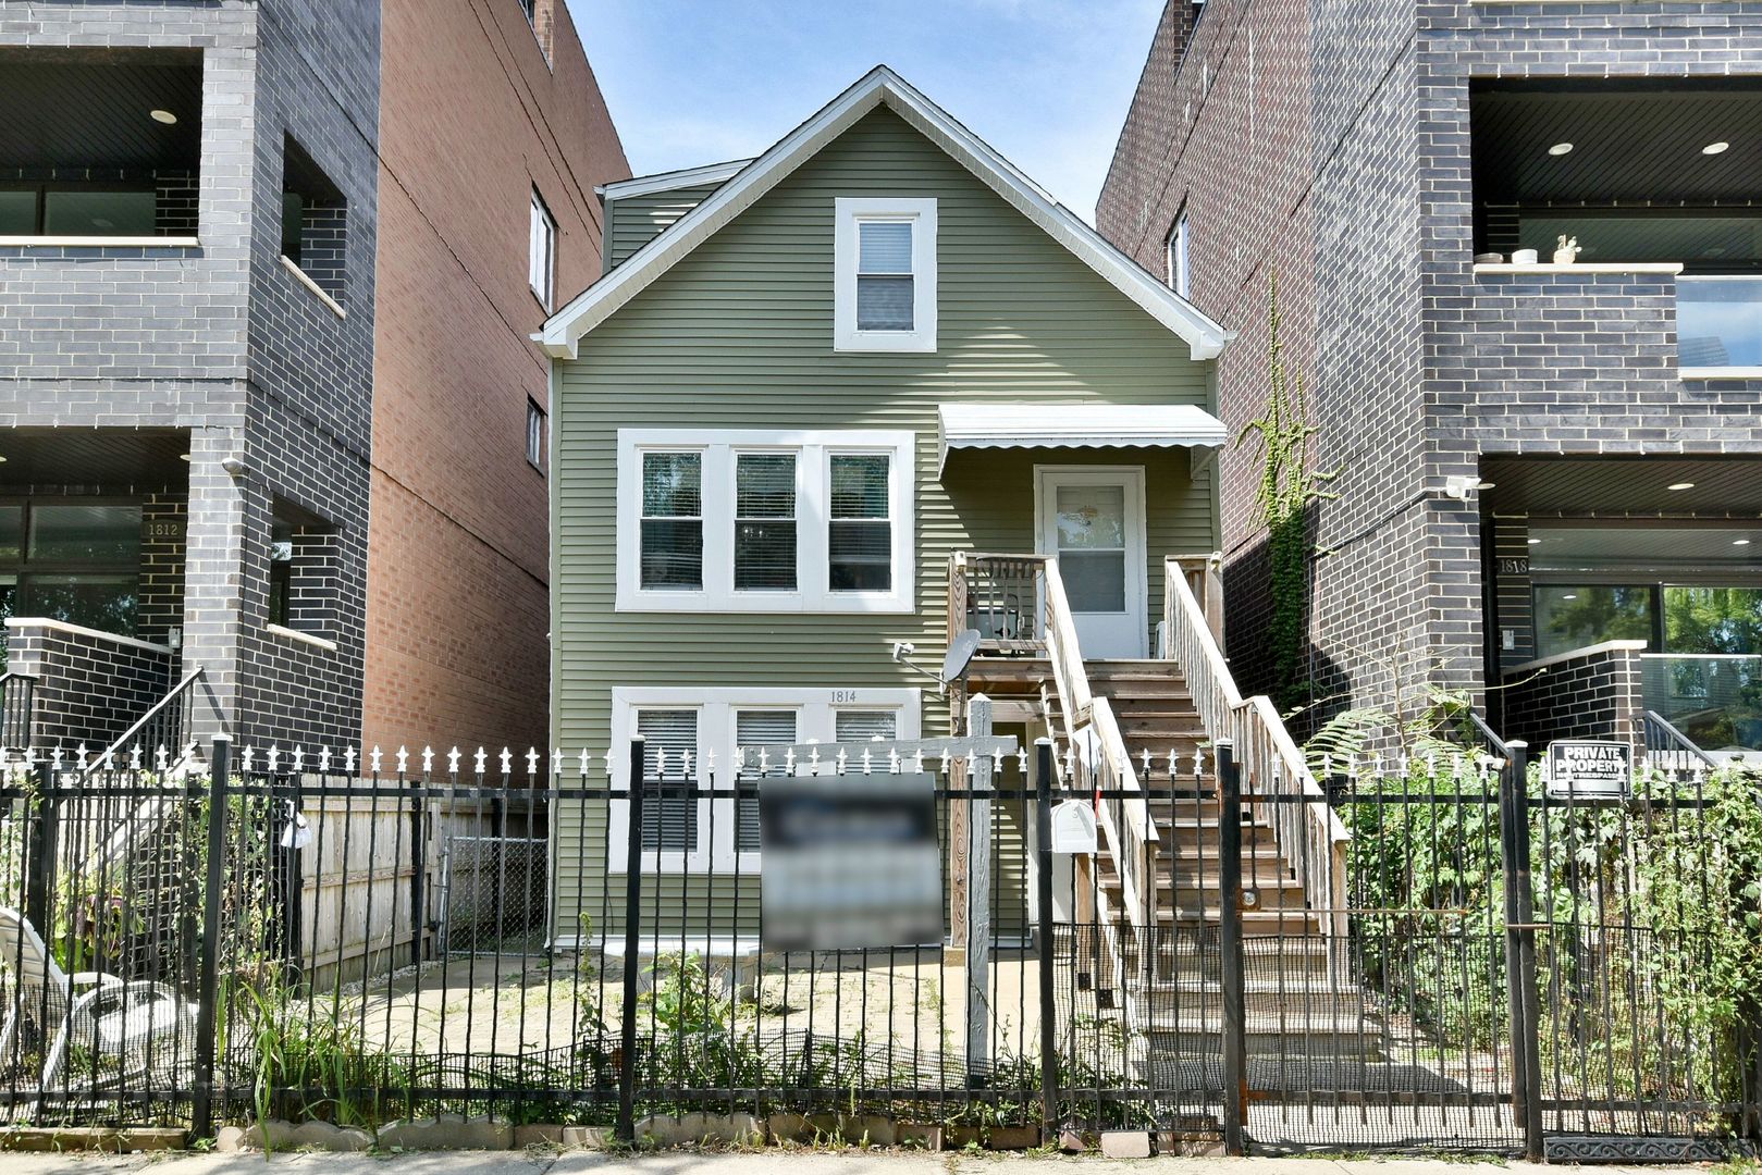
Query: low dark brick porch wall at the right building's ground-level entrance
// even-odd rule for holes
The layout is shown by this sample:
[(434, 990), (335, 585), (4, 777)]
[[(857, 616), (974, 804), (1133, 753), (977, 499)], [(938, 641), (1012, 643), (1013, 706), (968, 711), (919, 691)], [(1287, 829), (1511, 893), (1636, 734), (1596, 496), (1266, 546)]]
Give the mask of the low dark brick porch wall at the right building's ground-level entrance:
[(1640, 648), (1632, 641), (1598, 645), (1505, 675), (1505, 736), (1522, 738), (1535, 759), (1554, 738), (1633, 742), (1633, 717), (1644, 710)]

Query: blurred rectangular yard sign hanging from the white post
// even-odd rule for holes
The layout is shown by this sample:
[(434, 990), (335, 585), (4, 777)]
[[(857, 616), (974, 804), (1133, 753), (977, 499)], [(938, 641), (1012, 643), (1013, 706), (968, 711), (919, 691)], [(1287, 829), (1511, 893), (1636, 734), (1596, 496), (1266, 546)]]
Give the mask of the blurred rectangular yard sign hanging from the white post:
[(932, 775), (761, 779), (759, 853), (766, 951), (943, 941)]

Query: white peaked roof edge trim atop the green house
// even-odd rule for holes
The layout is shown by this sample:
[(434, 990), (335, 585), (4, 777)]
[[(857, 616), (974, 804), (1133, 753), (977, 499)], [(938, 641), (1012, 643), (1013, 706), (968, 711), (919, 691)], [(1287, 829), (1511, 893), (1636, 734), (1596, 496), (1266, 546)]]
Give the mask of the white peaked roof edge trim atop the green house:
[(1017, 171), (1015, 164), (950, 118), (948, 111), (918, 93), (886, 65), (869, 70), (862, 81), (835, 97), (818, 115), (779, 139), (751, 164), (740, 167), (708, 199), (546, 319), (544, 328), (534, 338), (553, 356), (574, 358), (581, 335), (611, 317), (624, 303), (673, 268), (680, 257), (751, 208), (754, 201), (812, 159), (819, 148), (837, 139), (877, 106), (886, 106), (916, 127), (1084, 264), (1184, 338), (1193, 349), (1195, 359), (1210, 359), (1233, 338), (1193, 303), (1114, 248), (1080, 217)]

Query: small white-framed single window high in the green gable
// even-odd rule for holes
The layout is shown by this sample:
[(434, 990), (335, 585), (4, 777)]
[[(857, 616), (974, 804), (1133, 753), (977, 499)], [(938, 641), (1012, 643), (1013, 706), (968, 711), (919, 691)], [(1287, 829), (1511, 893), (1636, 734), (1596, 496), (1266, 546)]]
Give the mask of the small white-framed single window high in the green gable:
[(936, 201), (833, 201), (833, 351), (936, 351)]

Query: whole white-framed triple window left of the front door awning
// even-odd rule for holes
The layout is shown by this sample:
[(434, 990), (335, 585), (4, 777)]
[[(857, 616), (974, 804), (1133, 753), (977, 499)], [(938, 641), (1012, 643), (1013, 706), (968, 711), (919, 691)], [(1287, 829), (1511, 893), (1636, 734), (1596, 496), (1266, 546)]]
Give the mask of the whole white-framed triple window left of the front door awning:
[(618, 432), (620, 611), (911, 611), (909, 432)]

